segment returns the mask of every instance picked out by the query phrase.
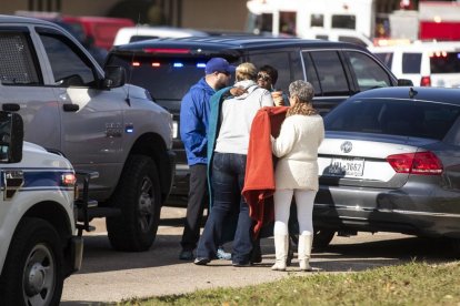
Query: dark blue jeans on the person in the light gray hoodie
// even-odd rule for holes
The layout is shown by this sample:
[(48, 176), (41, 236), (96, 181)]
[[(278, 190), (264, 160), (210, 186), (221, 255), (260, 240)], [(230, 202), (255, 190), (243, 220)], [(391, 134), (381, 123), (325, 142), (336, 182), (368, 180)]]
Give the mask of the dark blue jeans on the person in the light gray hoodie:
[(244, 184), (246, 155), (216, 153), (212, 161), (212, 202), (204, 231), (197, 248), (197, 257), (213, 258), (222, 233), (231, 226), (226, 221), (239, 206), (238, 224), (233, 239), (233, 263), (249, 263), (252, 252), (252, 220), (249, 206), (241, 196)]

